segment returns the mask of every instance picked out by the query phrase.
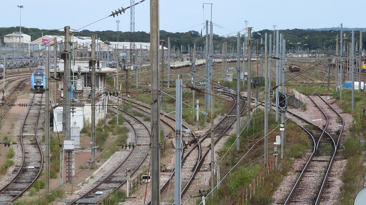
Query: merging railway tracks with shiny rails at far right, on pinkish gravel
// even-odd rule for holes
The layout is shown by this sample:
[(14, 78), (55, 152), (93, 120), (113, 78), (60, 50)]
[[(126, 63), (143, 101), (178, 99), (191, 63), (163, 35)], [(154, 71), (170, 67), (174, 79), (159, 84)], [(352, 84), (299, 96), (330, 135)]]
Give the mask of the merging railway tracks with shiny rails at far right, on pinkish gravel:
[[(289, 189), (283, 190), (282, 197), (276, 201), (276, 204), (317, 205), (320, 202), (326, 202), (330, 198), (330, 192), (326, 189), (332, 186), (332, 182), (328, 181), (328, 176), (335, 160), (344, 123), (343, 120), (337, 122), (337, 120), (341, 119), (341, 116), (321, 96), (315, 97), (320, 98), (322, 103), (315, 104), (313, 101), (314, 96), (309, 96), (320, 112), (323, 113), (326, 123), (320, 128), (290, 112), (292, 119), (296, 117), (305, 122), (305, 124), (311, 125), (311, 129), (309, 129), (306, 128), (304, 123), (293, 119), (311, 136), (313, 151), (306, 164), (296, 170), (298, 177), (296, 181), (290, 182), (292, 188), (289, 187)], [(339, 126), (335, 127), (337, 124)]]

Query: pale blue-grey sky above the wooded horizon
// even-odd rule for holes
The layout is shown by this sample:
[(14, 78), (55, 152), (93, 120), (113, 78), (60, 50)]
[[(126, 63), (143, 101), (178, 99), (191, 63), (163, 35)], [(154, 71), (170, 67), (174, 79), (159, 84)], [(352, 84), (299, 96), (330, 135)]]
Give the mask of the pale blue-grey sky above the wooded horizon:
[[(135, 0), (137, 3), (139, 0)], [(340, 5), (334, 0), (160, 0), (160, 30), (201, 32), (206, 19), (210, 20), (210, 5), (213, 3), (213, 32), (218, 35), (236, 35), (245, 27), (244, 20), (254, 31), (292, 28), (365, 27), (362, 12), (362, 0), (348, 0)], [(149, 32), (149, 4), (146, 0), (135, 6), (135, 31)], [(130, 9), (117, 16), (105, 18), (111, 11), (130, 5), (130, 0), (15, 0), (1, 2), (0, 27), (19, 26), (19, 8), (21, 24), (24, 27), (42, 29), (60, 29), (70, 26), (72, 29), (91, 31), (116, 31), (116, 20), (120, 20), (119, 30), (130, 31)], [(203, 31), (203, 34), (205, 31)]]

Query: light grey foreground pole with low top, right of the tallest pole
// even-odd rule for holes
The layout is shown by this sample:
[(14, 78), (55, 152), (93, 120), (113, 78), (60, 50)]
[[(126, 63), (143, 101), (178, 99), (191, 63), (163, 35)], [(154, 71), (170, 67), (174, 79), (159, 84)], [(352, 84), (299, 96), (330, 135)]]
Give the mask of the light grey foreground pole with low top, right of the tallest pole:
[(182, 181), (182, 80), (176, 80), (176, 94), (175, 94), (175, 181), (174, 194), (175, 204), (180, 203), (180, 190)]

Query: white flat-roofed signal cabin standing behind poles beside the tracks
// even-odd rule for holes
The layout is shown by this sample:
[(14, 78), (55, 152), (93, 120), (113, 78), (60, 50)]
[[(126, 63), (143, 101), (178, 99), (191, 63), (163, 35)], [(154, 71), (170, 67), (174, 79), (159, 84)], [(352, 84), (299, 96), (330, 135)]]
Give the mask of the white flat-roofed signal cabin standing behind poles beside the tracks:
[[(96, 122), (104, 119), (107, 115), (108, 98), (104, 93), (106, 88), (106, 80), (109, 74), (115, 74), (116, 69), (105, 67), (105, 62), (100, 63), (101, 68), (96, 69)], [(72, 73), (71, 85), (74, 92), (71, 94), (75, 102), (75, 113), (71, 113), (71, 127), (88, 126), (91, 123), (91, 72), (89, 72), (87, 61), (75, 61), (75, 65), (71, 65)], [(59, 67), (56, 68), (57, 78), (62, 79), (64, 74), (64, 63), (61, 61)], [(54, 69), (50, 69), (51, 76)], [(57, 93), (56, 108), (53, 110), (54, 116), (54, 132), (62, 132), (63, 129), (63, 81), (57, 81), (59, 92)]]

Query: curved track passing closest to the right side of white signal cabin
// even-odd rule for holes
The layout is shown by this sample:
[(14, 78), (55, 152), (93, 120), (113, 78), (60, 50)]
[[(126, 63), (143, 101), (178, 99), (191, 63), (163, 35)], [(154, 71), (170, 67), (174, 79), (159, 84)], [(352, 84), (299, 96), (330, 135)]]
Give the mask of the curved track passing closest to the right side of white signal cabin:
[[(116, 109), (116, 108), (114, 108)], [(122, 110), (121, 110), (122, 111)], [(122, 111), (124, 119), (132, 127), (135, 133), (135, 144), (150, 143), (150, 128), (147, 127), (141, 120), (133, 115)], [(133, 175), (149, 154), (150, 147), (136, 146), (130, 148), (130, 152), (115, 169), (107, 171), (100, 179), (93, 184), (93, 188), (79, 198), (69, 202), (72, 204), (100, 204), (105, 198), (109, 197), (112, 192), (119, 189), (127, 181), (126, 169), (130, 169), (130, 174)], [(97, 200), (96, 202), (89, 201), (90, 199)]]

